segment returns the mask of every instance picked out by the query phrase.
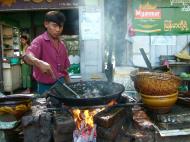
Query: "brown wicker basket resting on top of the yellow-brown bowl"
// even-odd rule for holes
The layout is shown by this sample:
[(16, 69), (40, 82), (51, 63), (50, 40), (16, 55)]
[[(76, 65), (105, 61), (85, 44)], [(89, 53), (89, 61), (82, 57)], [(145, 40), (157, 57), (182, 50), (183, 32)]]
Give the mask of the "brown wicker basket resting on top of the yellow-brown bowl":
[(138, 72), (131, 77), (136, 90), (146, 95), (173, 94), (181, 83), (179, 77), (167, 73)]

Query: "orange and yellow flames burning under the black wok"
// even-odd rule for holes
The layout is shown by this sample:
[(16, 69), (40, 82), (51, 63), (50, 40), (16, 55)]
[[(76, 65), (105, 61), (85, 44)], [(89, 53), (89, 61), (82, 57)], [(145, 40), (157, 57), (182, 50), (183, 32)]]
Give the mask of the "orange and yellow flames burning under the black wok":
[[(107, 104), (110, 107), (117, 102), (111, 101)], [(73, 118), (76, 123), (76, 129), (73, 132), (74, 142), (96, 142), (96, 124), (94, 124), (94, 116), (105, 108), (97, 109), (73, 109)]]

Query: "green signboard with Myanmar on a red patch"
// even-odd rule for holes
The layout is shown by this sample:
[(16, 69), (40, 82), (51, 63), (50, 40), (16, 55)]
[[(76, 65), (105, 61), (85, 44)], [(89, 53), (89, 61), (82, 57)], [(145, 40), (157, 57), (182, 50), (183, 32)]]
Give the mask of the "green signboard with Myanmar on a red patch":
[(190, 0), (133, 0), (136, 35), (190, 33)]

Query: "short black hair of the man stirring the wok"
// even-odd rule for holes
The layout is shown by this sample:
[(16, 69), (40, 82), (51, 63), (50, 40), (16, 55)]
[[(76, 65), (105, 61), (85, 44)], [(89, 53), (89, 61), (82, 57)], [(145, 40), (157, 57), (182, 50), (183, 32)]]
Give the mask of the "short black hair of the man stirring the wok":
[(49, 11), (45, 15), (45, 21), (55, 22), (59, 26), (63, 26), (65, 23), (65, 15), (60, 11)]

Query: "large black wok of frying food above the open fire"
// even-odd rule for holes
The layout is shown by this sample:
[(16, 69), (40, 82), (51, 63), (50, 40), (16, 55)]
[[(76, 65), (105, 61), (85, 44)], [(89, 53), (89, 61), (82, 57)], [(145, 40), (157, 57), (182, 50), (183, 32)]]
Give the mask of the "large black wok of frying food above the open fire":
[(63, 102), (67, 106), (95, 106), (105, 105), (111, 100), (119, 100), (124, 86), (106, 81), (82, 81), (68, 84), (80, 98), (70, 93), (60, 83), (52, 86), (48, 95)]

